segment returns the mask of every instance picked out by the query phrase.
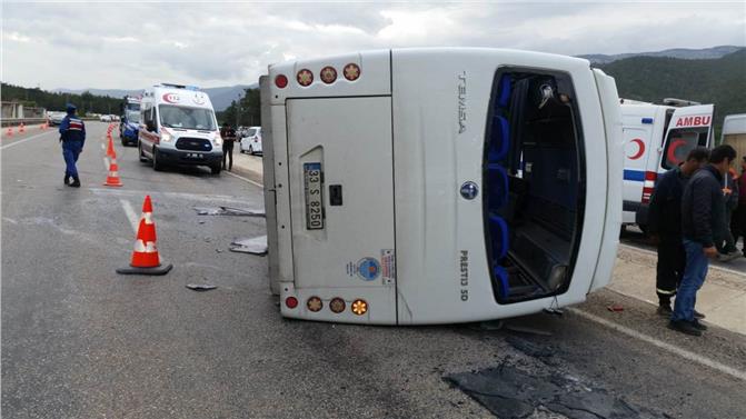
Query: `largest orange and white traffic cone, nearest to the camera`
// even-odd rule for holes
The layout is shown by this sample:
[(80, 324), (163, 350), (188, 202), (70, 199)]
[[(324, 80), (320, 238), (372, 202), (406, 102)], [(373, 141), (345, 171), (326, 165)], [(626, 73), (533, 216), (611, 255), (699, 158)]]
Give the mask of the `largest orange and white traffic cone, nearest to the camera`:
[(171, 270), (171, 263), (162, 263), (156, 247), (156, 223), (152, 221), (152, 203), (150, 196), (142, 202), (142, 217), (135, 239), (135, 251), (128, 268), (117, 269), (122, 275), (166, 275)]

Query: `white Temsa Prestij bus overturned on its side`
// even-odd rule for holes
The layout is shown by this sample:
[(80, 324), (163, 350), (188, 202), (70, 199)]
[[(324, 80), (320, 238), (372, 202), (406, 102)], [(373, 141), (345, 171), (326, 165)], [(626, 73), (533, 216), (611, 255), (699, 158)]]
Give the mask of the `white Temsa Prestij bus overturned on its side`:
[(491, 320), (609, 282), (621, 114), (614, 79), (587, 60), (364, 51), (270, 66), (260, 92), (284, 317)]

